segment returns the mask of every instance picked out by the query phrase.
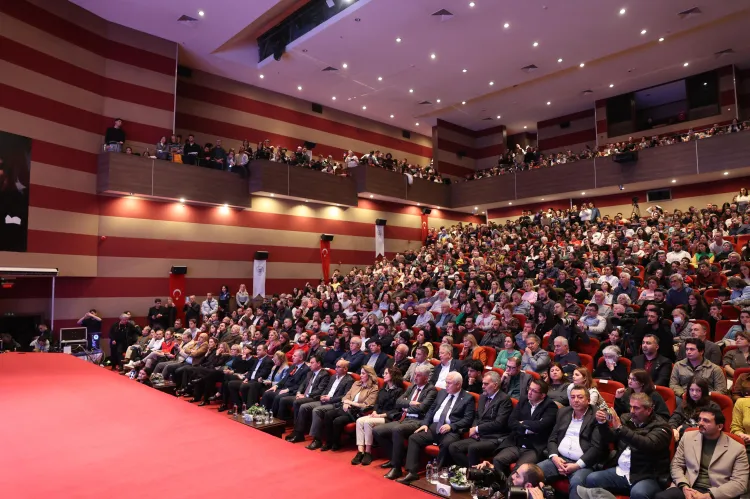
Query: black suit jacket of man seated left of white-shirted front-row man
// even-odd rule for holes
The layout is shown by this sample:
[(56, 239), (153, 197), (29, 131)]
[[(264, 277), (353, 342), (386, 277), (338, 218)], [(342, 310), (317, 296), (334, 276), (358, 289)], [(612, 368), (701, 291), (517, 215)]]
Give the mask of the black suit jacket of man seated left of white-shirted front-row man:
[[(557, 404), (544, 397), (531, 414), (531, 403), (522, 398), (510, 414), (510, 435), (502, 441), (498, 450), (506, 447), (526, 447), (536, 450), (541, 456), (557, 419)], [(526, 430), (533, 433), (526, 433)]]

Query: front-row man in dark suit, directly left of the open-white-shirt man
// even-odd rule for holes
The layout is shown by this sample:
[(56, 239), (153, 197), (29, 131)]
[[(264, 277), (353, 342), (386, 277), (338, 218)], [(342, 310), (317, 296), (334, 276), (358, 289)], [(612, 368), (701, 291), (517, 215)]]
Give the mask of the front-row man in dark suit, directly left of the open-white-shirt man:
[(557, 418), (557, 405), (547, 398), (547, 383), (532, 380), (522, 398), (510, 414), (510, 434), (498, 447), (493, 459), (495, 469), (508, 474), (510, 465), (538, 463), (547, 447), (552, 427)]

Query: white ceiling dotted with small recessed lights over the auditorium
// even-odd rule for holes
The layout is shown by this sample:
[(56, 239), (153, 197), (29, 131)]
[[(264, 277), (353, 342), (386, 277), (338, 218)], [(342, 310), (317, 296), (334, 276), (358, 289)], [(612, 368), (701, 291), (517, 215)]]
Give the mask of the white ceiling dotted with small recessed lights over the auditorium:
[[(474, 0), (474, 7), (470, 0), (357, 0), (290, 44), (278, 62), (258, 61), (251, 28), (297, 0), (72, 1), (179, 42), (181, 63), (195, 69), (424, 134), (438, 118), (475, 130), (532, 131), (537, 121), (591, 109), (597, 99), (750, 63), (750, 0)], [(692, 7), (703, 14), (677, 15)], [(195, 27), (176, 22), (201, 9), (206, 15)], [(440, 9), (453, 17), (431, 15)], [(714, 56), (728, 48), (735, 54)], [(521, 71), (529, 64), (539, 69)], [(339, 71), (321, 72), (326, 66)], [(593, 94), (583, 96), (586, 89)]]

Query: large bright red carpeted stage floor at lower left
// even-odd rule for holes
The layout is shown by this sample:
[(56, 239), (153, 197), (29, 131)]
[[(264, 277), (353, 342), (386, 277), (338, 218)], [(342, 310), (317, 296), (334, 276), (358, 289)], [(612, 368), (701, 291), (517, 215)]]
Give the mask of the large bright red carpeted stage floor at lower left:
[(8, 499), (428, 497), (353, 455), (308, 451), (68, 355), (0, 355)]

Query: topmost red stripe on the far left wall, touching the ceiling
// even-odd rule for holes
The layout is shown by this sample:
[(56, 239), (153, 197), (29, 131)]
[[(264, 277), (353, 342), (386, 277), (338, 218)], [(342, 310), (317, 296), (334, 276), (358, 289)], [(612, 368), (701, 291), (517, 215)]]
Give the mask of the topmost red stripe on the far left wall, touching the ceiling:
[(0, 2), (0, 12), (106, 59), (175, 75), (175, 59), (109, 40), (25, 0)]

